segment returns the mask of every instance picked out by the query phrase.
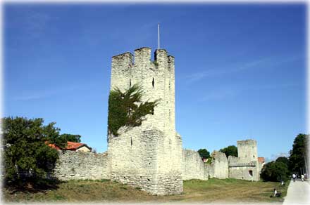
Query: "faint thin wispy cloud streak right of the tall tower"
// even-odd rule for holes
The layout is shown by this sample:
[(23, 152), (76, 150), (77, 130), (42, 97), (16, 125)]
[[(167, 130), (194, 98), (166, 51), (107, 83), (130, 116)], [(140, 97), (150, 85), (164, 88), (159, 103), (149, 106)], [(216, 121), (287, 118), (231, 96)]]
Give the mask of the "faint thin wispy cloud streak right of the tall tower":
[[(193, 83), (195, 81), (200, 81), (202, 79), (205, 79), (207, 77), (216, 77), (216, 76), (222, 76), (225, 74), (233, 74), (236, 72), (243, 72), (245, 70), (251, 70), (256, 68), (262, 68), (262, 67), (273, 67), (277, 65), (281, 65), (286, 62), (291, 62), (294, 60), (297, 60), (301, 58), (299, 55), (293, 56), (290, 58), (261, 58), (259, 60), (253, 60), (250, 62), (244, 62), (240, 65), (230, 65), (229, 67), (224, 68), (217, 68), (217, 69), (210, 69), (205, 70), (203, 72), (196, 72), (194, 74), (190, 74), (189, 76), (185, 77), (185, 81), (187, 84)], [(280, 59), (280, 60), (279, 60)]]

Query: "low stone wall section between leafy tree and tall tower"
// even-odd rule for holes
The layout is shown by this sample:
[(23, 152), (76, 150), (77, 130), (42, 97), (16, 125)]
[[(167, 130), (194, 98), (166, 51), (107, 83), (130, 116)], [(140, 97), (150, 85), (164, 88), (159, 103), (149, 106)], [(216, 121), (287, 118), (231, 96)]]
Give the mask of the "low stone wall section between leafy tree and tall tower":
[(106, 153), (58, 151), (54, 176), (60, 180), (110, 179), (110, 164)]

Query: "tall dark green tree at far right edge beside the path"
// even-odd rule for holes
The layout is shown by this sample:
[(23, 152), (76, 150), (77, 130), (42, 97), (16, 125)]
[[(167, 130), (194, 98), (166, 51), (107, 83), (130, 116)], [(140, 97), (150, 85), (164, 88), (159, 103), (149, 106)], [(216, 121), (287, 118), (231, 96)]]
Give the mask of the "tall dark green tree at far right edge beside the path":
[(306, 140), (309, 135), (299, 134), (294, 139), (292, 150), (290, 150), (290, 171), (299, 172), (300, 168), (305, 168), (306, 160)]

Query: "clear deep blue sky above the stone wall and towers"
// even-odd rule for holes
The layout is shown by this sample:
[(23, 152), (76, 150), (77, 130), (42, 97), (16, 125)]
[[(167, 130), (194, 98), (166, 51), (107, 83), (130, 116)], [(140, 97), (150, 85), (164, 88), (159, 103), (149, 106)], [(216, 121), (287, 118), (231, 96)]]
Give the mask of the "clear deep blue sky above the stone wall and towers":
[(111, 56), (175, 56), (183, 147), (258, 142), (272, 159), (306, 132), (304, 4), (5, 4), (4, 116), (56, 121), (106, 150)]

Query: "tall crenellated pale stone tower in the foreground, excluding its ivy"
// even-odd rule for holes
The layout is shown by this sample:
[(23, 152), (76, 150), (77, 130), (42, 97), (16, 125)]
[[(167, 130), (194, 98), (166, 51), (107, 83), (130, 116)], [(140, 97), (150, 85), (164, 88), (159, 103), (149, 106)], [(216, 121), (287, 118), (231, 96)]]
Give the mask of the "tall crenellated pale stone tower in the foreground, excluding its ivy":
[(164, 49), (151, 48), (112, 57), (111, 89), (133, 84), (143, 88), (143, 101), (160, 99), (141, 126), (120, 128), (108, 136), (111, 180), (141, 187), (151, 194), (182, 192), (182, 140), (175, 131), (175, 65)]

